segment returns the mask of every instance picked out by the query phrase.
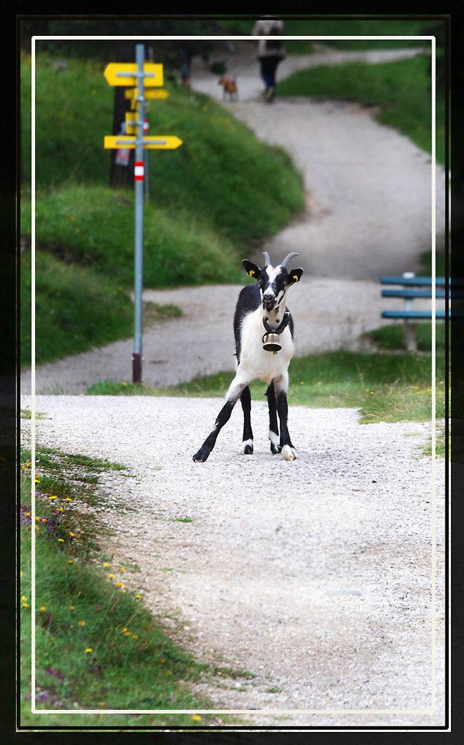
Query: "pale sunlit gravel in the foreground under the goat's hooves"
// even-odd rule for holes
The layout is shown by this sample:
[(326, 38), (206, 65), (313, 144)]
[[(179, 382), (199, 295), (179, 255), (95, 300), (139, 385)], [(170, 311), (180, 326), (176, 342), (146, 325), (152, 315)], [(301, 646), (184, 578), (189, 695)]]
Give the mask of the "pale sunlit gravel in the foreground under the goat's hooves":
[(260, 726), (442, 724), (444, 469), (433, 635), (430, 425), (290, 407), (288, 463), (270, 455), (253, 402), (255, 454), (238, 454), (236, 408), (193, 463), (221, 403), (37, 396), (37, 440), (129, 467), (133, 478), (103, 477), (104, 545), (198, 659), (253, 673), (194, 686), (216, 711), (261, 710), (243, 714)]

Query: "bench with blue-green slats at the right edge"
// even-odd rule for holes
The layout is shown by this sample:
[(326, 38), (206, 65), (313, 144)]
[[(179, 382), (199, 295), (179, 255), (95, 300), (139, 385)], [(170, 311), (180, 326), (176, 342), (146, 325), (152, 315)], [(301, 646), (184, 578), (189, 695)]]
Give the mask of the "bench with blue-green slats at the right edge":
[[(417, 322), (431, 320), (432, 311), (414, 310), (413, 300), (416, 298), (432, 297), (432, 278), (415, 276), (412, 272), (403, 276), (382, 276), (382, 285), (400, 285), (395, 290), (382, 290), (382, 297), (404, 298), (404, 308), (401, 311), (383, 311), (382, 318), (402, 319), (404, 321), (404, 347), (408, 352), (417, 351)], [(455, 291), (454, 291), (455, 294)], [(445, 277), (436, 277), (435, 297), (445, 299), (450, 297), (450, 291), (445, 291)], [(451, 311), (448, 311), (451, 315)], [(436, 311), (436, 319), (444, 319), (445, 311)]]

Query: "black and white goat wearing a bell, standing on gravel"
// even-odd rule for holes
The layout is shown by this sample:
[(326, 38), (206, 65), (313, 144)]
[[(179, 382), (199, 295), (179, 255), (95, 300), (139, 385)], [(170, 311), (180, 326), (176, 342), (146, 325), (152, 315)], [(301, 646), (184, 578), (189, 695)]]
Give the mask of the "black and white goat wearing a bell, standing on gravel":
[[(226, 393), (226, 403), (220, 410), (212, 432), (206, 437), (193, 460), (204, 462), (214, 448), (217, 435), (229, 421), (232, 409), (241, 400), (244, 410), (244, 437), (241, 452), (253, 451), (251, 428), (251, 394), (249, 385), (259, 378), (268, 384), (269, 439), (273, 454), (282, 452), (285, 460), (295, 460), (296, 450), (287, 428), (288, 365), (293, 355), (293, 318), (285, 307), (290, 285), (299, 282), (302, 269), (287, 270), (288, 262), (298, 256), (289, 253), (279, 266), (273, 267), (264, 251), (265, 264), (260, 269), (244, 259), (245, 270), (256, 279), (254, 285), (244, 287), (235, 308), (234, 333), (237, 370)], [(277, 417), (280, 420), (279, 425)]]

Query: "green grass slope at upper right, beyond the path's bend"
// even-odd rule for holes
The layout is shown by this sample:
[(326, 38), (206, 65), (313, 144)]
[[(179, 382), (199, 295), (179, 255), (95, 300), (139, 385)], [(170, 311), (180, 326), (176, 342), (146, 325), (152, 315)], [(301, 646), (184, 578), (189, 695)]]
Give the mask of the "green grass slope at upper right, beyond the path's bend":
[[(379, 65), (354, 62), (317, 67), (290, 75), (279, 83), (278, 96), (352, 98), (380, 107), (381, 124), (396, 127), (419, 148), (431, 153), (429, 57), (413, 57)], [(436, 159), (445, 165), (445, 108), (436, 107)]]

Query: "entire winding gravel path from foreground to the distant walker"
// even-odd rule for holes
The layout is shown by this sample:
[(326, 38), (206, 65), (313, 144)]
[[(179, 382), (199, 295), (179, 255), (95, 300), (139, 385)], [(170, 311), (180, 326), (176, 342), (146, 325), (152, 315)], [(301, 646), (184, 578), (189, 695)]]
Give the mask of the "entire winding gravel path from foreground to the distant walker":
[[(281, 77), (315, 57), (285, 60)], [(194, 87), (220, 95), (199, 62)], [(239, 89), (240, 103), (226, 107), (293, 154), (308, 191), (305, 215), (267, 244), (276, 259), (299, 251), (305, 268), (288, 301), (296, 354), (359, 349), (360, 333), (381, 325), (378, 276), (415, 270), (430, 246), (428, 158), (355, 104), (268, 107), (258, 98), (257, 66), (239, 77)], [(144, 381), (163, 386), (231, 369), (239, 289), (146, 291), (145, 299), (175, 302), (185, 315), (144, 332)], [(127, 340), (39, 366), (36, 391), (129, 381), (131, 354)], [(25, 371), (23, 407), (30, 391)], [(238, 454), (236, 408), (208, 462), (193, 463), (221, 404), (39, 395), (37, 442), (130, 469), (133, 478), (103, 477), (98, 517), (114, 530), (107, 551), (139, 566), (127, 571), (128, 585), (143, 590), (198, 659), (254, 675), (197, 684), (216, 711), (296, 729), (442, 725), (445, 477), (437, 461), (434, 512), (432, 464), (421, 451), (430, 425), (359, 425), (356, 410), (290, 406), (299, 460), (287, 463), (271, 457), (267, 411), (253, 402), (255, 454)]]

